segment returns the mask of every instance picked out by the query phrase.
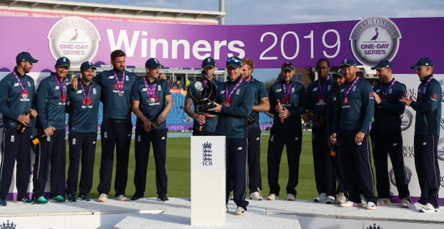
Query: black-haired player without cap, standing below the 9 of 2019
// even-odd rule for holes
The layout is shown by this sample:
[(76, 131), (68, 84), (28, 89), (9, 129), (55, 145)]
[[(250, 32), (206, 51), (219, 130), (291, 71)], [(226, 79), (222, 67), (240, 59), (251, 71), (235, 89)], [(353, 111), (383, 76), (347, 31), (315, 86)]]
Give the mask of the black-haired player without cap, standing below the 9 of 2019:
[(325, 129), (327, 98), (334, 90), (334, 80), (330, 79), (330, 63), (327, 59), (316, 62), (318, 80), (307, 88), (308, 116), (313, 122), (311, 127), (311, 147), (313, 149), (314, 176), (319, 196), (314, 201), (334, 203), (334, 174), (330, 150), (327, 145), (328, 136)]

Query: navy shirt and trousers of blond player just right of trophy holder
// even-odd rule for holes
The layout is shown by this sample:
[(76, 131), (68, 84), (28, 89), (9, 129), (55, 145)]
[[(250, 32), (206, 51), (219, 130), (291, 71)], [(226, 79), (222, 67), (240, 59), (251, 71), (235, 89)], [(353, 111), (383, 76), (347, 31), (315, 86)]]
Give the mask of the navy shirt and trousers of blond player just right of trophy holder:
[[(264, 83), (251, 76), (250, 82), (247, 82), (255, 89), (255, 103), (261, 103), (262, 98), (268, 98)], [(259, 128), (259, 112), (251, 111), (248, 119), (248, 189), (250, 194), (262, 190), (261, 176), (261, 129)], [(253, 119), (252, 119), (253, 118)]]

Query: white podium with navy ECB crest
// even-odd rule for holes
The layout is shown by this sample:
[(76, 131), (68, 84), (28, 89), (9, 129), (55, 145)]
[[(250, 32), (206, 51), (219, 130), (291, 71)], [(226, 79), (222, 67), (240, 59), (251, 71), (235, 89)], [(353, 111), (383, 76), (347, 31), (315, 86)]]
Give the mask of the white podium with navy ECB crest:
[(191, 226), (225, 226), (225, 136), (191, 136)]

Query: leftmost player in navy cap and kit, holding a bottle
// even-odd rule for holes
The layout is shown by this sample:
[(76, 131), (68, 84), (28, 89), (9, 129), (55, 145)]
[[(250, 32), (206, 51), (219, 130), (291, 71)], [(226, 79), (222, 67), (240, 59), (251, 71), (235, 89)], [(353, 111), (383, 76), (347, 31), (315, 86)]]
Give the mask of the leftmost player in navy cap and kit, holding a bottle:
[[(35, 111), (34, 80), (27, 75), (37, 63), (28, 52), (22, 52), (15, 57), (14, 71), (0, 81), (0, 111), (3, 113), (4, 135), (1, 144), (0, 164), (0, 205), (6, 205), (6, 195), (12, 181), (15, 161), (17, 161), (17, 201), (33, 203), (28, 199), (29, 176), (31, 175), (31, 142), (33, 119)], [(31, 112), (30, 116), (26, 113)], [(29, 126), (21, 131), (19, 125)]]

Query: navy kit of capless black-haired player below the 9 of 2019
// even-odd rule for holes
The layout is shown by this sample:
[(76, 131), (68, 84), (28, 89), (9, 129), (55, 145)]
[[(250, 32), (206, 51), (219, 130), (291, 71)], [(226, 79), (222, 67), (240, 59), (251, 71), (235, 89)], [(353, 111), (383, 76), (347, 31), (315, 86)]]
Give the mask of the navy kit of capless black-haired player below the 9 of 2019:
[[(307, 88), (308, 110), (325, 120), (327, 100), (334, 93), (334, 80), (316, 80)], [(330, 149), (327, 145), (327, 132), (324, 125), (313, 123), (311, 128), (311, 147), (313, 149), (314, 177), (318, 194), (325, 192), (327, 196), (335, 196), (334, 172)]]

